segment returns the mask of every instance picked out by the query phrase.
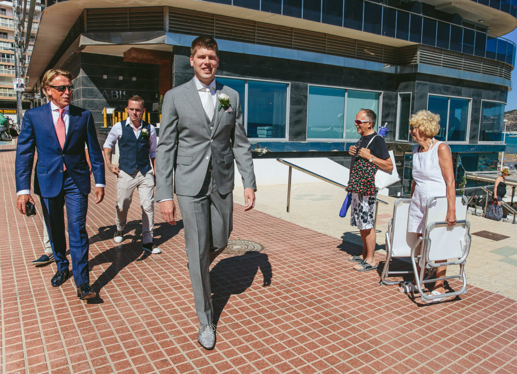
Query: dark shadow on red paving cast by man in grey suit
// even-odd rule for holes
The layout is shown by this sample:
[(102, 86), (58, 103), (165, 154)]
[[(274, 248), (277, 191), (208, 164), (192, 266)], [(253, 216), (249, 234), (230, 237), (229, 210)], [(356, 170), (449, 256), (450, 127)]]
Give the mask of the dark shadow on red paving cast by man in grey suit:
[(227, 257), (212, 268), (210, 284), (213, 293), (214, 324), (217, 325), (230, 296), (242, 293), (252, 285), (258, 269), (264, 277), (263, 287), (269, 286), (272, 278), (271, 264), (264, 253), (247, 252), (244, 255)]

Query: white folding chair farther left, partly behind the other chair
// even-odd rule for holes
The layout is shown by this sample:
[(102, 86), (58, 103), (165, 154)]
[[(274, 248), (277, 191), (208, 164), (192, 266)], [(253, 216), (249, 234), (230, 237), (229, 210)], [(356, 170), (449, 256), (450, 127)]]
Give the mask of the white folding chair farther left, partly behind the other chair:
[(386, 277), (412, 274), (413, 270), (389, 270), (393, 258), (410, 257), (411, 248), (418, 246), (420, 239), (416, 232), (407, 232), (407, 219), (411, 199), (397, 199), (393, 206), (393, 217), (388, 222), (386, 231), (386, 263), (381, 274), (381, 284), (395, 285), (401, 281), (386, 281)]

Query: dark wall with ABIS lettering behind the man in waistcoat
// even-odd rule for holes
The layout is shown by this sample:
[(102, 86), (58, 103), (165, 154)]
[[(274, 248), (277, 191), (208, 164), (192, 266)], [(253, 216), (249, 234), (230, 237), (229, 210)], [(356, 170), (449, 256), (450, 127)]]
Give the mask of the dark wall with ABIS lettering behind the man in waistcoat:
[[(124, 111), (127, 99), (139, 95), (145, 100), (146, 111), (159, 100), (158, 65), (126, 63), (122, 57), (81, 53), (64, 67), (75, 79), (73, 104), (92, 112), (97, 127), (103, 126), (102, 110), (115, 107)], [(108, 75), (103, 79), (102, 75)], [(118, 76), (123, 76), (122, 80)], [(136, 81), (132, 77), (136, 77)]]

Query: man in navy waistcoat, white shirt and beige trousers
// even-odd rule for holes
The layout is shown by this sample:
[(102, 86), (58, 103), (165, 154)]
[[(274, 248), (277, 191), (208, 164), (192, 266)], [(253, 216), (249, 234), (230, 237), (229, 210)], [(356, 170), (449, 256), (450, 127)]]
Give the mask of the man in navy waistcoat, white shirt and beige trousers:
[[(160, 253), (160, 248), (153, 244), (156, 131), (152, 124), (142, 119), (145, 109), (144, 100), (140, 96), (135, 95), (128, 100), (127, 110), (128, 118), (115, 123), (104, 142), (106, 164), (117, 176), (117, 228), (114, 239), (116, 243), (124, 240), (128, 210), (136, 188), (142, 207), (142, 248), (149, 253)], [(111, 161), (117, 142), (118, 167)]]

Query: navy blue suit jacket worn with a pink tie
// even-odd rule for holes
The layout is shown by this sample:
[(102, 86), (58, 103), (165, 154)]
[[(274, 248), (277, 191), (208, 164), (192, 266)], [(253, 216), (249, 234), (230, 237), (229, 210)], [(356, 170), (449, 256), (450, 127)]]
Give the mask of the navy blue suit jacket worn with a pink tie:
[(97, 140), (92, 113), (69, 106), (70, 121), (63, 149), (59, 145), (52, 121), (50, 103), (25, 112), (22, 131), (16, 148), (16, 190), (31, 189), (35, 149), (38, 151), (34, 173), (34, 192), (42, 197), (55, 197), (63, 188), (63, 163), (81, 191), (90, 193), (90, 174), (84, 144), (88, 146), (95, 183), (105, 184), (104, 160)]

